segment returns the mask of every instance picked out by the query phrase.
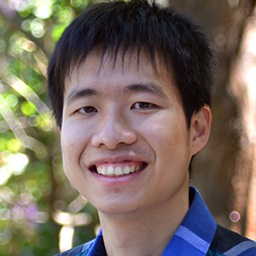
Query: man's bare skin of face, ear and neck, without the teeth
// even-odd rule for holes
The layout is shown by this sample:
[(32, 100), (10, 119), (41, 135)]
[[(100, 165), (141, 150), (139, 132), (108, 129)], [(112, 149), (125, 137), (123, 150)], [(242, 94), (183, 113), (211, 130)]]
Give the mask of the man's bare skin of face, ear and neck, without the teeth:
[[(99, 51), (66, 81), (61, 148), (73, 186), (99, 212), (108, 255), (160, 255), (189, 209), (189, 161), (207, 143), (204, 106), (188, 129), (172, 77), (148, 56)], [(137, 166), (120, 177), (96, 166)], [(122, 230), (122, 232), (120, 232)], [(124, 231), (125, 230), (125, 231)]]

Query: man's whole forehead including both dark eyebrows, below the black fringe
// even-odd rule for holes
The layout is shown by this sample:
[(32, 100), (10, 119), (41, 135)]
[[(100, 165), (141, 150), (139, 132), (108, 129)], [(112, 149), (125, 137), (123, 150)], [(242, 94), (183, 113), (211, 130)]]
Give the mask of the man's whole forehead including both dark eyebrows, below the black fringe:
[(175, 95), (180, 100), (177, 86), (173, 85), (172, 75), (158, 55), (150, 61), (145, 51), (140, 55), (131, 52), (114, 56), (111, 53), (102, 55), (101, 50), (94, 49), (66, 79), (64, 100), (67, 103), (81, 95), (117, 97), (127, 92), (148, 92), (164, 97)]

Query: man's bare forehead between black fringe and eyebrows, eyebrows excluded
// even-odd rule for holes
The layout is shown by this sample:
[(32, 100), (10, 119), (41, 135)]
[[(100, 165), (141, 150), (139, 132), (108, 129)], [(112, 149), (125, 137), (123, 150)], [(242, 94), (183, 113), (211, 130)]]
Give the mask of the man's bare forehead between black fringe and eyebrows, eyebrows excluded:
[(102, 76), (106, 78), (118, 73), (124, 77), (129, 73), (137, 73), (140, 78), (143, 76), (158, 79), (168, 78), (173, 82), (172, 75), (167, 71), (168, 68), (164, 63), (165, 61), (162, 61), (160, 55), (155, 54), (154, 58), (150, 58), (146, 50), (139, 53), (137, 50), (128, 50), (125, 54), (119, 50), (117, 54), (113, 52), (102, 54), (102, 49), (97, 47), (90, 51), (81, 65), (74, 65), (66, 78), (66, 86), (83, 74), (84, 76), (90, 74), (90, 76), (100, 79)]

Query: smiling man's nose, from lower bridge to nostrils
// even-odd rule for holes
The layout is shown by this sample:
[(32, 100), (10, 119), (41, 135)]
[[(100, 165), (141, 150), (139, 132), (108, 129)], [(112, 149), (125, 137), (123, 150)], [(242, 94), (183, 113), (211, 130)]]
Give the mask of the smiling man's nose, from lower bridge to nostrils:
[(137, 135), (131, 128), (131, 121), (122, 114), (108, 113), (98, 122), (91, 144), (96, 148), (104, 145), (115, 149), (121, 144), (132, 144), (136, 140)]

